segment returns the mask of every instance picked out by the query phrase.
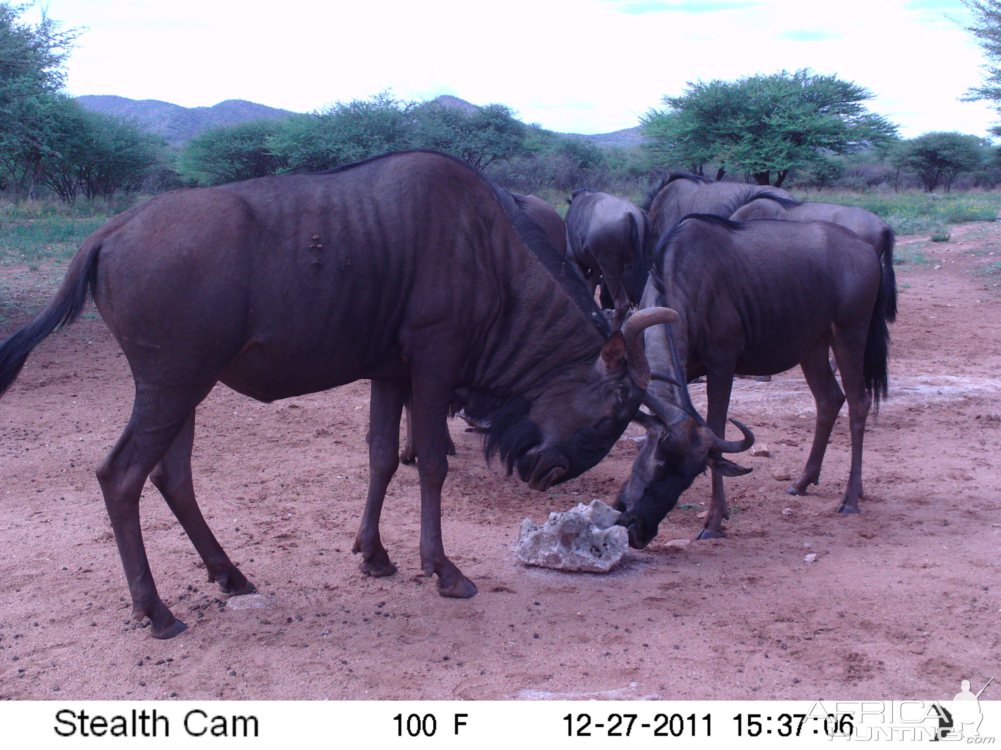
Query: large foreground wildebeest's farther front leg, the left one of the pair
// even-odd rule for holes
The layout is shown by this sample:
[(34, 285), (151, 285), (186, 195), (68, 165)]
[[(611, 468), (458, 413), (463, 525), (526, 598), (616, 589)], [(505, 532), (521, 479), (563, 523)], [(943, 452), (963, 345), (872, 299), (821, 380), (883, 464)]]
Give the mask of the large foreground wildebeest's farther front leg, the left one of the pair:
[[(396, 451), (399, 450), (399, 415), (405, 397), (406, 386), (402, 383), (372, 381), (368, 426), (368, 498), (365, 500), (365, 510), (352, 551), (361, 553), (358, 569), (365, 575), (376, 578), (396, 572), (396, 566), (389, 561), (389, 555), (379, 538), (378, 519), (382, 512), (385, 489), (399, 465), (396, 458)], [(409, 425), (407, 428), (409, 429)]]

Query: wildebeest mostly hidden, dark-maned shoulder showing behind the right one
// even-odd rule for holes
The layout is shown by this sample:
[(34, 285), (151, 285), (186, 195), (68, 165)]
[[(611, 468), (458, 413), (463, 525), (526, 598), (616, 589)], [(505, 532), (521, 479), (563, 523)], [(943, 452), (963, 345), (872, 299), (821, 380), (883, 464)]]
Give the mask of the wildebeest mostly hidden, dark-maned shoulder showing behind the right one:
[[(770, 185), (717, 182), (689, 172), (672, 172), (647, 192), (643, 208), (650, 216), (650, 236), (656, 242), (683, 216), (714, 214), (726, 218), (763, 196), (793, 201), (785, 190)], [(652, 263), (653, 259), (648, 261)]]

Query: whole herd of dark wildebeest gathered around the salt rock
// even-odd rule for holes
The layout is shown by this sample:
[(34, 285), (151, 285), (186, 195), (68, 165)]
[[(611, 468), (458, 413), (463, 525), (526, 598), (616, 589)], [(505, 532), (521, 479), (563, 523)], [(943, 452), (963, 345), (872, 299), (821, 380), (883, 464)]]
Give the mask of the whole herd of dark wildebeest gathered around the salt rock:
[[(817, 424), (789, 492), (818, 482), (847, 397), (852, 460), (838, 511), (854, 513), (896, 314), (893, 233), (867, 211), (675, 173), (643, 208), (577, 190), (565, 223), (546, 201), (432, 151), (178, 190), (115, 216), (84, 241), (48, 305), (0, 347), (0, 394), (88, 296), (135, 380), (131, 417), (97, 478), (133, 613), (157, 638), (185, 626), (157, 595), (143, 547), (147, 477), (209, 579), (231, 594), (254, 590), (192, 485), (195, 407), (219, 381), (270, 402), (369, 379), (360, 568), (396, 570), (379, 515), (400, 459), (415, 459), (421, 568), (437, 575), (442, 596), (469, 597), (475, 585), (441, 543), (449, 416), (478, 425), (487, 459), (498, 456), (537, 490), (595, 466), (638, 422), (647, 439), (617, 500), (630, 544), (649, 544), (707, 467), (713, 494), (699, 537), (718, 537), (723, 477), (749, 471), (724, 454), (754, 443), (737, 420), (743, 438), (725, 439), (733, 378), (799, 364)], [(705, 419), (688, 391), (703, 376)]]

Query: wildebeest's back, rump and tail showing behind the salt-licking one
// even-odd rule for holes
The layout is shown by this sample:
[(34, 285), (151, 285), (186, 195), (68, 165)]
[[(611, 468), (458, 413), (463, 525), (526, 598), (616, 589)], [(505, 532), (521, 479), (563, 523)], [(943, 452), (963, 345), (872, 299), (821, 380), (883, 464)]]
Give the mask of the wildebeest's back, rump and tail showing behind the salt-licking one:
[(788, 221), (831, 221), (851, 229), (876, 250), (883, 262), (883, 286), (886, 294), (886, 319), (897, 319), (897, 276), (893, 270), (894, 234), (890, 225), (872, 211), (858, 206), (839, 206), (820, 201), (790, 201), (772, 196), (757, 198), (737, 209), (734, 221), (751, 219), (786, 219)]

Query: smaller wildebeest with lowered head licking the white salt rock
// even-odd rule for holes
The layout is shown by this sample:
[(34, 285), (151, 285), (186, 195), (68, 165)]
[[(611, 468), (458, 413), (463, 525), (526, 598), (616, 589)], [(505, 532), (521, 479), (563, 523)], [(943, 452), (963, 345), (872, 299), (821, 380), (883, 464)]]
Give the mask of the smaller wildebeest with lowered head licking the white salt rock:
[[(735, 373), (769, 375), (799, 364), (817, 404), (817, 423), (810, 457), (791, 494), (805, 494), (808, 485), (819, 482), (831, 428), (847, 395), (852, 463), (837, 510), (858, 512), (866, 416), (887, 387), (887, 300), (872, 247), (830, 222), (738, 223), (693, 215), (675, 225), (656, 252), (642, 306), (667, 300), (681, 320), (670, 332), (661, 326), (647, 331), (652, 370), (680, 385), (705, 375), (706, 422), (722, 438)], [(669, 333), (677, 340), (676, 354), (666, 341)], [(844, 392), (828, 365), (829, 345), (841, 367)], [(687, 391), (654, 382), (647, 401), (665, 408), (655, 408), (658, 417), (641, 417), (648, 423), (648, 439), (618, 502), (628, 509), (619, 523), (630, 529), (635, 546), (654, 538), (688, 486), (679, 489), (679, 466), (692, 462), (692, 451), (703, 451), (705, 467), (699, 442), (704, 439), (691, 447), (689, 433), (698, 420), (685, 414), (694, 411)], [(723, 535), (723, 475), (744, 471), (735, 465), (714, 468), (700, 539)]]

